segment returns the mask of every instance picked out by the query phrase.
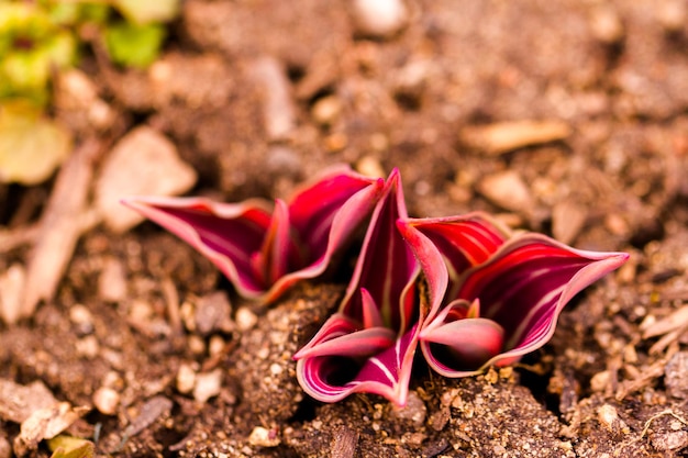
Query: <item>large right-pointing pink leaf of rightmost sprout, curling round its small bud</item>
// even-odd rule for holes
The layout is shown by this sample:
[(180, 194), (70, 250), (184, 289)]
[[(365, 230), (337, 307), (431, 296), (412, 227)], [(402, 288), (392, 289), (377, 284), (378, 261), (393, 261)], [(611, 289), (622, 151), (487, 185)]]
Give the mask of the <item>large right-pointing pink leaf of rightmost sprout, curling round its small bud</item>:
[[(448, 298), (480, 300), (481, 317), (503, 328), (501, 353), (482, 365), (453, 365), (446, 357), (439, 362), (442, 350), (425, 340), (433, 331), (423, 331), (423, 354), (433, 369), (447, 377), (464, 377), (489, 365), (513, 362), (552, 337), (559, 313), (576, 293), (619, 268), (628, 257), (625, 253), (575, 249), (540, 234), (518, 235), (487, 262), (465, 272), (457, 297)], [(440, 313), (426, 328), (441, 326), (444, 319), (445, 314)]]

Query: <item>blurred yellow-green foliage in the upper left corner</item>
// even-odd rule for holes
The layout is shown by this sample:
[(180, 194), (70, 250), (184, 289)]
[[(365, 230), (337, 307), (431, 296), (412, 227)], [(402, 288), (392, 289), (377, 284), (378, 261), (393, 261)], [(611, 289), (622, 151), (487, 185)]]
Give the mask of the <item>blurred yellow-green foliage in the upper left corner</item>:
[[(20, 132), (31, 135), (31, 123), (35, 123), (35, 132), (45, 132), (51, 121), (41, 114), (51, 100), (53, 77), (78, 65), (79, 55), (93, 41), (106, 48), (110, 60), (118, 66), (151, 65), (166, 37), (165, 23), (179, 13), (179, 2), (0, 0), (0, 127), (19, 123), (24, 126)], [(60, 129), (53, 124), (49, 131), (53, 127)], [(26, 179), (18, 172), (16, 165), (26, 164), (29, 170), (27, 158), (36, 156), (32, 148), (45, 142), (22, 141), (11, 131), (0, 129), (0, 181), (33, 183), (36, 174), (30, 174), (31, 178)], [(11, 138), (2, 138), (10, 134)], [(27, 156), (18, 157), (19, 154)]]

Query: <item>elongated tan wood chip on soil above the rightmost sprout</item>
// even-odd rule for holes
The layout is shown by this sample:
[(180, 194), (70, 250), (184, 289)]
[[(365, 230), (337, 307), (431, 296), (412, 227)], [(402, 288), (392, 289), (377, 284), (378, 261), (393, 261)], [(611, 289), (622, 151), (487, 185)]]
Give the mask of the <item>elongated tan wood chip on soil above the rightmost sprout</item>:
[(570, 135), (563, 121), (510, 121), (464, 129), (462, 142), (489, 155), (500, 155), (524, 146), (556, 142)]

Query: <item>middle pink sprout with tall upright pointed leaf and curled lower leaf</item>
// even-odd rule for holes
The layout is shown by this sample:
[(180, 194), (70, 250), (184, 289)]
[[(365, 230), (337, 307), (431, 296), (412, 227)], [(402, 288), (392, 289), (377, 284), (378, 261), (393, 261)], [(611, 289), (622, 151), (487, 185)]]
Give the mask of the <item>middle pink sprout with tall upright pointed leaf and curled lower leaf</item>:
[[(397, 230), (400, 217), (407, 217), (407, 210), (399, 172), (395, 170), (373, 211), (336, 315), (337, 337), (330, 337), (335, 332), (332, 323), (325, 323), (296, 355), (299, 382), (317, 400), (334, 402), (353, 392), (369, 392), (397, 404), (406, 403), (420, 329), (415, 297), (420, 268)], [(343, 323), (348, 323), (348, 331), (343, 329)], [(340, 336), (340, 331), (348, 334)], [(392, 340), (386, 347), (375, 348), (388, 335)], [(351, 347), (355, 339), (359, 339), (362, 350), (354, 356)], [(374, 353), (368, 355), (370, 350)]]

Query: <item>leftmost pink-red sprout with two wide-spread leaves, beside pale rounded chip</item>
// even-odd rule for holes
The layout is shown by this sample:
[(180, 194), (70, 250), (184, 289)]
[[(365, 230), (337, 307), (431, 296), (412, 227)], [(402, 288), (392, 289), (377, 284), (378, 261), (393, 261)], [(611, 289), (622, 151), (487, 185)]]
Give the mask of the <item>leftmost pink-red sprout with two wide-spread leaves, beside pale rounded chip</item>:
[(384, 180), (333, 168), (273, 213), (259, 200), (230, 204), (201, 198), (131, 198), (124, 204), (208, 257), (237, 292), (266, 302), (315, 278), (370, 217)]

